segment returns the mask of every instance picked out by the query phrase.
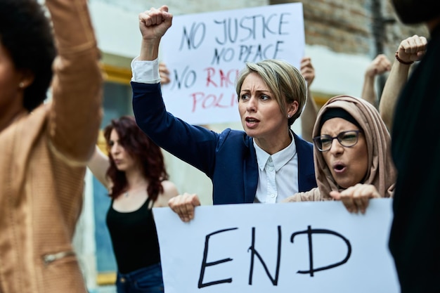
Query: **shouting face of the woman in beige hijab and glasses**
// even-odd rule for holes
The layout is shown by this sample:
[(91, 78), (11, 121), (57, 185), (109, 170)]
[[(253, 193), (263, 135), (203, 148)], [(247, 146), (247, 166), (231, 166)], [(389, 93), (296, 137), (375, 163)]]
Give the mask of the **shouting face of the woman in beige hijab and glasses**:
[[(337, 136), (342, 131), (361, 130), (342, 118), (332, 118), (324, 122), (321, 136)], [(351, 147), (342, 146), (337, 139), (332, 140), (330, 150), (321, 152), (337, 185), (342, 188), (360, 183), (368, 169), (368, 150), (363, 133), (359, 133), (358, 142)]]

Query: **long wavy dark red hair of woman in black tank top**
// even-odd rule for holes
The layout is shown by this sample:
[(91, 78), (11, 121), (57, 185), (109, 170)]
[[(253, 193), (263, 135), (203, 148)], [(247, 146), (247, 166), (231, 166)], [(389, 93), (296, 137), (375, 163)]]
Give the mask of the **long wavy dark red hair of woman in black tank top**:
[(110, 167), (107, 176), (113, 183), (110, 197), (115, 199), (127, 190), (127, 178), (124, 171), (119, 171), (110, 152), (110, 134), (115, 129), (119, 136), (119, 143), (131, 157), (141, 162), (143, 176), (148, 179), (147, 193), (151, 200), (155, 201), (159, 193), (163, 193), (162, 181), (167, 180), (169, 175), (164, 164), (162, 150), (141, 131), (136, 120), (131, 116), (122, 116), (112, 119), (104, 129), (105, 142), (107, 143)]

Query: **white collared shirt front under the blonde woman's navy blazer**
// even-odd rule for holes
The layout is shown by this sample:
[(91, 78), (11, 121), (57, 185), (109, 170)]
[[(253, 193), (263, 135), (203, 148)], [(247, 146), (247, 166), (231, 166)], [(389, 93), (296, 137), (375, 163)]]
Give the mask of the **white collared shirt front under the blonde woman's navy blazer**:
[(258, 185), (254, 202), (275, 203), (294, 195), (298, 188), (298, 155), (295, 140), (287, 148), (269, 155), (254, 141), (258, 163)]

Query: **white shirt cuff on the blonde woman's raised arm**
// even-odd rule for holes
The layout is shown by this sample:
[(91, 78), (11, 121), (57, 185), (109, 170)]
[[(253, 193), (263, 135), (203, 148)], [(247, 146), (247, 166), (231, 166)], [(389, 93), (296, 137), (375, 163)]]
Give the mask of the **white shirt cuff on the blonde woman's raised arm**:
[(138, 60), (139, 56), (131, 61), (131, 82), (143, 84), (158, 84), (160, 82), (159, 58), (155, 60)]

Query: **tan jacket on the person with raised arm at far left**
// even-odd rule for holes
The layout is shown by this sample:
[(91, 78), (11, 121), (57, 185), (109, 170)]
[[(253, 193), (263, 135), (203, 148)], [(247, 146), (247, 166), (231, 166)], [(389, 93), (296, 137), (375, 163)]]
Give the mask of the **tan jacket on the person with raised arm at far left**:
[(86, 0), (48, 0), (58, 57), (53, 102), (0, 133), (0, 292), (82, 293), (72, 250), (102, 74)]

